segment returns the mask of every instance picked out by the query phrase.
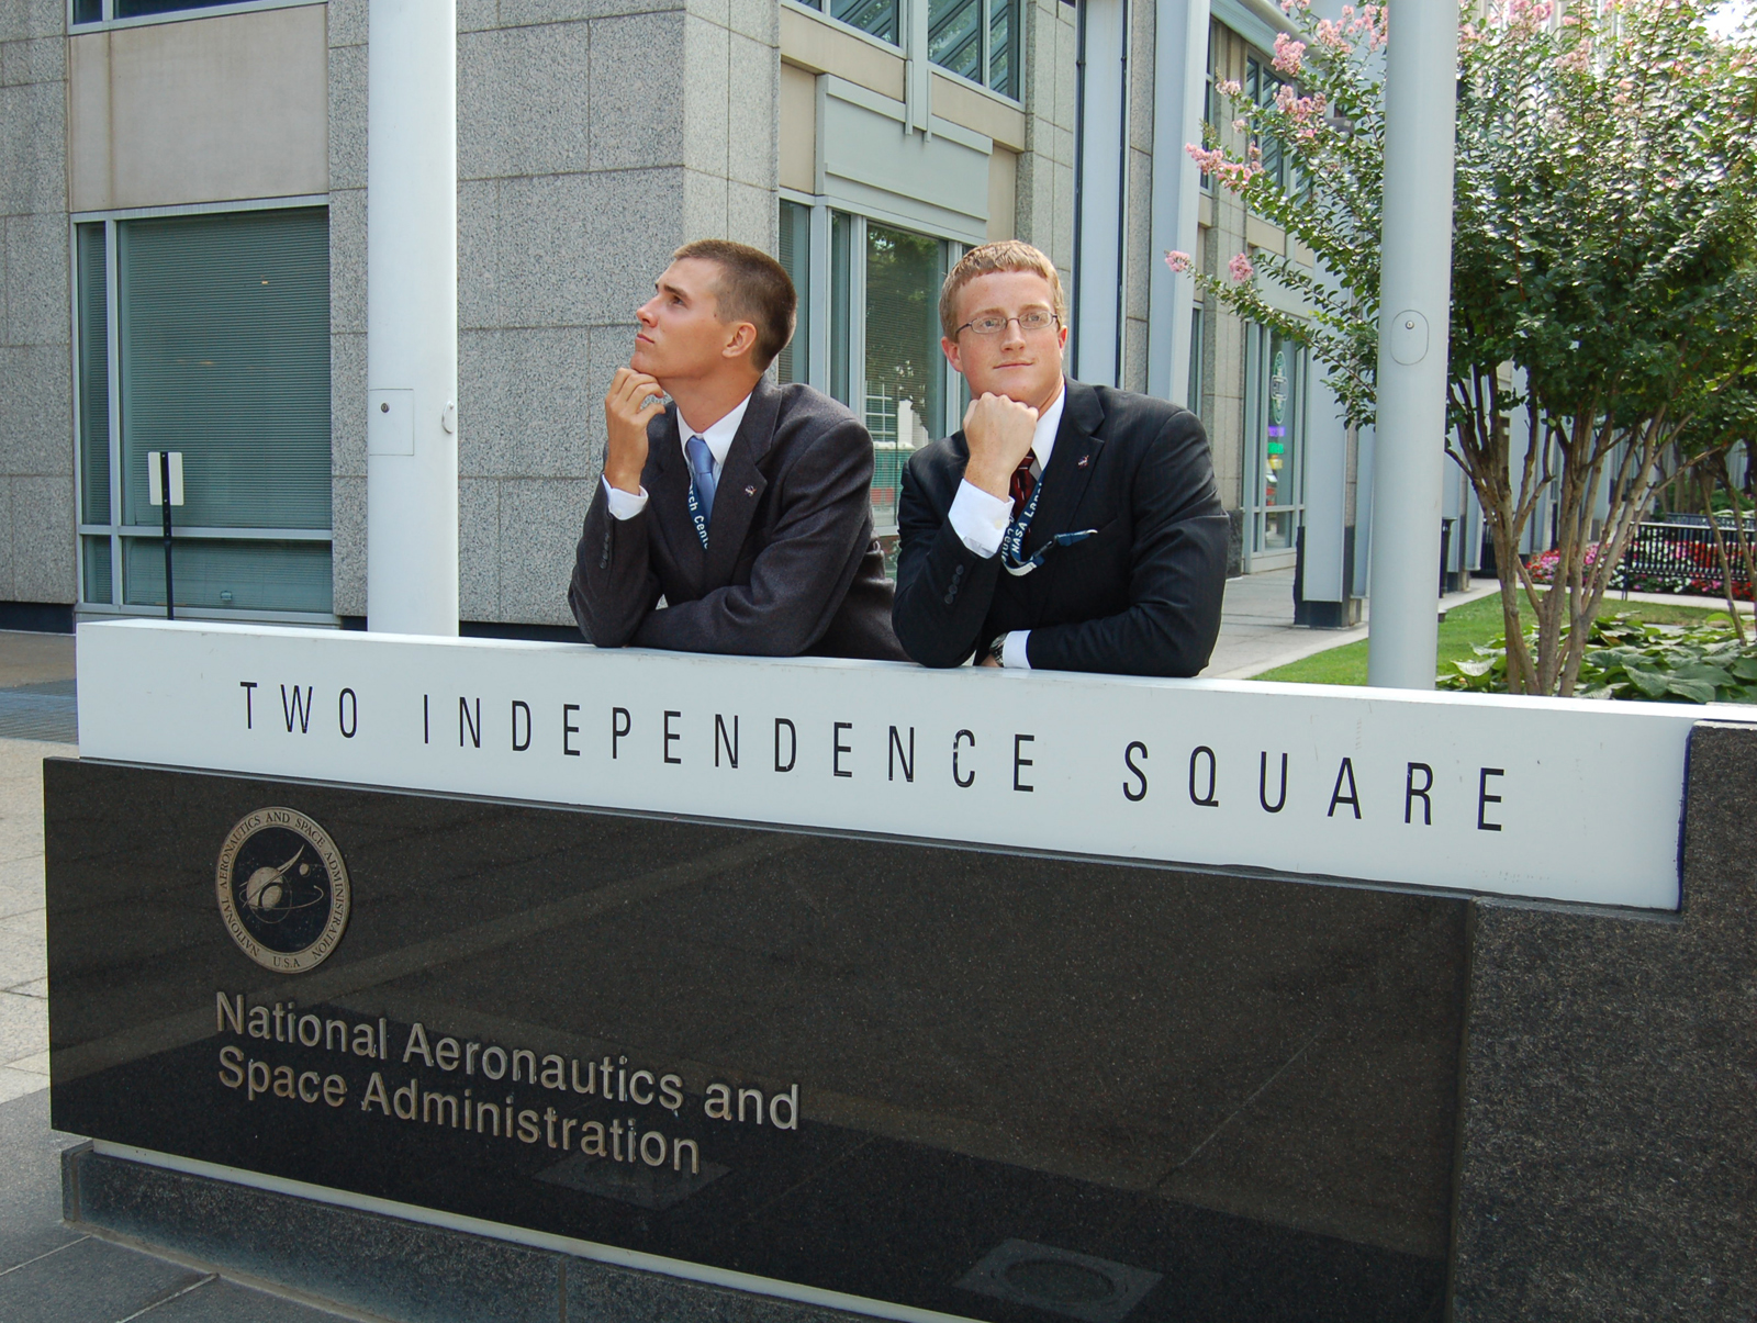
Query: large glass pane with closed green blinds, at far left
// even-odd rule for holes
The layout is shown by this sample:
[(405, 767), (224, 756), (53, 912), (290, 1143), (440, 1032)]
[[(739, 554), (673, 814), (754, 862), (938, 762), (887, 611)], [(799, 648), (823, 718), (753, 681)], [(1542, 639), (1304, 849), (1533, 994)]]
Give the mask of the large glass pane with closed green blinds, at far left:
[(330, 525), (329, 216), (118, 227), (123, 517), (156, 524), (146, 452), (183, 452), (199, 527)]

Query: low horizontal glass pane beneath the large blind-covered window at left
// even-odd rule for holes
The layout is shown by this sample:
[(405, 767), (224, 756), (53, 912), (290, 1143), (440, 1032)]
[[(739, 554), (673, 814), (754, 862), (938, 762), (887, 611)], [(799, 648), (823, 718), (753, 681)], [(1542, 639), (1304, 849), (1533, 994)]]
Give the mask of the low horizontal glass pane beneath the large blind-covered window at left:
[[(130, 606), (165, 604), (165, 545), (123, 538), (123, 585)], [(218, 611), (329, 613), (329, 543), (188, 538), (172, 543), (177, 606)]]

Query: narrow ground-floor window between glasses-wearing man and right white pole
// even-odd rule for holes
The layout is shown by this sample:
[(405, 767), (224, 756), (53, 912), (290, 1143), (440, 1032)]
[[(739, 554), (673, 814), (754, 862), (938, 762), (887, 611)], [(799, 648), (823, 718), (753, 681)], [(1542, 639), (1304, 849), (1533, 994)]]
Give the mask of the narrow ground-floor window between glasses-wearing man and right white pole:
[(1305, 350), (1246, 327), (1246, 518), (1254, 569), (1291, 564), (1304, 511)]

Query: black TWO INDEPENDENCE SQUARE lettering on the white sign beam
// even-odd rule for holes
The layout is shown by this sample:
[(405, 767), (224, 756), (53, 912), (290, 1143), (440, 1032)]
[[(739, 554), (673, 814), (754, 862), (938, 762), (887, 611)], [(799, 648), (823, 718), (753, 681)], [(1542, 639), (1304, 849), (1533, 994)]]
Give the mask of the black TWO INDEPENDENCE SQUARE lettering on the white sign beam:
[[(276, 717), (285, 724), (288, 734), (309, 734), (311, 722), (316, 715), (316, 687), (315, 685), (297, 685), (292, 687), (279, 685), (279, 713), (272, 710), (269, 713), (258, 713), (257, 689), (264, 687), (257, 680), (239, 680), (239, 689), (242, 690), (242, 719), (244, 729), (253, 731), (258, 719), (274, 720)], [(450, 720), (452, 720), (452, 696), (436, 699), (434, 694), (422, 694), (422, 712), (420, 712), (420, 731), (422, 743), (430, 747), (436, 738), (450, 740)], [(592, 722), (582, 713), (587, 712), (583, 703), (562, 703), (559, 712), (559, 720), (550, 726), (550, 743), (562, 757), (580, 757), (585, 752), (585, 741), (597, 738), (608, 741), (608, 752), (611, 761), (622, 761), (624, 757), (657, 757), (673, 766), (682, 766), (685, 757), (694, 750), (698, 757), (706, 757), (705, 747), (712, 745), (712, 757), (715, 768), (727, 768), (729, 771), (738, 771), (740, 759), (748, 759), (748, 750), (745, 748), (745, 722), (743, 717), (733, 713), (713, 712), (712, 727), (708, 726), (708, 715), (692, 713), (694, 720), (685, 717), (683, 710), (675, 708), (657, 708), (654, 712), (641, 712), (640, 731), (636, 729), (636, 712), (633, 708), (618, 705), (603, 705), (599, 713), (601, 720), (594, 734)], [(543, 743), (539, 736), (541, 722), (532, 715), (532, 705), (525, 699), (508, 699), (506, 712), (501, 713), (497, 720), (495, 706), (490, 703), (487, 720), (483, 717), (481, 698), (457, 696), (457, 747), (459, 748), (481, 748), (483, 738), (494, 740), (497, 736), (506, 738), (508, 747), (515, 754), (527, 754), (534, 747)], [(322, 720), (322, 717), (318, 717)], [(757, 722), (752, 722), (757, 724)], [(768, 720), (759, 722), (759, 726), (768, 727)], [(344, 740), (355, 738), (360, 729), (360, 698), (350, 689), (343, 687), (336, 694), (336, 727)], [(499, 727), (499, 729), (494, 729)], [(828, 722), (828, 731), (817, 731), (815, 736), (828, 743), (829, 754), (829, 775), (831, 777), (854, 777), (854, 754), (856, 738), (861, 731), (861, 722), (852, 720), (831, 720)], [(917, 748), (915, 748), (915, 727), (914, 726), (886, 726), (880, 722), (870, 724), (871, 738), (877, 731), (884, 729), (886, 745), (886, 780), (905, 780), (914, 782), (917, 771)], [(763, 750), (757, 757), (766, 759), (770, 755), (768, 729), (756, 736), (763, 743)], [(791, 717), (773, 717), (773, 771), (780, 775), (792, 773), (799, 768), (799, 747), (801, 738), (813, 738), (810, 727), (801, 736), (801, 726)], [(938, 740), (938, 754), (928, 754), (926, 768), (922, 768), (924, 777), (933, 777), (935, 763), (938, 761), (938, 775), (949, 777), (951, 784), (958, 789), (970, 789), (977, 782), (980, 771), (987, 775), (1007, 777), (1010, 773), (1012, 789), (1021, 794), (1031, 794), (1037, 791), (1033, 784), (1033, 768), (1037, 768), (1035, 743), (1037, 736), (1014, 731), (1010, 733), (1010, 750), (1007, 743), (1001, 741), (1001, 754), (996, 759), (991, 750), (980, 750), (977, 741), (977, 733), (972, 729), (959, 729), (952, 733), (951, 740)], [(949, 743), (949, 750), (947, 750)], [(926, 745), (922, 747), (926, 754)], [(1182, 750), (1179, 750), (1182, 752)], [(1128, 803), (1142, 803), (1147, 799), (1149, 787), (1149, 761), (1153, 754), (1144, 740), (1130, 740), (1123, 745), (1119, 752), (1119, 792)], [(1476, 773), (1476, 796), (1474, 808), (1476, 828), (1479, 831), (1500, 831), (1500, 822), (1495, 821), (1493, 806), (1502, 801), (1502, 780), (1506, 777), (1504, 768), (1478, 768)], [(1188, 755), (1188, 778), (1179, 785), (1179, 791), (1188, 792), (1189, 803), (1198, 808), (1219, 808), (1219, 787), (1221, 787), (1221, 766), (1219, 754), (1209, 745), (1195, 745), (1189, 748)], [(1362, 819), (1363, 796), (1360, 784), (1355, 775), (1355, 761), (1351, 755), (1342, 754), (1335, 763), (1335, 778), (1328, 785), (1328, 794), (1323, 796), (1323, 785), (1314, 787), (1320, 794), (1309, 796), (1307, 805), (1323, 805), (1325, 817), (1335, 817), (1341, 810), (1344, 817), (1353, 813), (1356, 821)], [(1434, 785), (1434, 768), (1428, 763), (1409, 761), (1404, 766), (1404, 784), (1400, 787), (1400, 808), (1406, 824), (1434, 826), (1434, 799), (1437, 796)], [(1258, 750), (1256, 763), (1256, 799), (1258, 806), (1267, 813), (1279, 813), (1288, 808), (1288, 754), (1279, 752), (1276, 757), (1270, 750)], [(1399, 805), (1392, 803), (1388, 808), (1395, 810)]]

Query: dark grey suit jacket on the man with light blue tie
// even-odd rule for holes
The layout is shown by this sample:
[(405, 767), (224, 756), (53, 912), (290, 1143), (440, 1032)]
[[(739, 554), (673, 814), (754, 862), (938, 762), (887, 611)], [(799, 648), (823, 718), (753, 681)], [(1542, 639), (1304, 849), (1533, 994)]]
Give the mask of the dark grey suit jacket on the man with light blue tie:
[(854, 415), (810, 387), (759, 380), (720, 467), (706, 552), (676, 429), (675, 404), (647, 427), (640, 515), (615, 518), (597, 483), (568, 590), (585, 640), (901, 661), (873, 541), (873, 443)]

